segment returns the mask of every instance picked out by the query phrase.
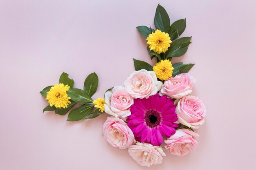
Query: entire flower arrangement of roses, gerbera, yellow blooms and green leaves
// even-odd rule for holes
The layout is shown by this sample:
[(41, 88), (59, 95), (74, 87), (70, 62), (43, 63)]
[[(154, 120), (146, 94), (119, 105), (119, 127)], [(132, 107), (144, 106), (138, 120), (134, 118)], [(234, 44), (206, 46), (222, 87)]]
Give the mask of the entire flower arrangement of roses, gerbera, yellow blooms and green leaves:
[(172, 57), (184, 55), (191, 37), (180, 37), (186, 28), (186, 19), (170, 24), (166, 10), (158, 5), (154, 24), (137, 29), (146, 38), (148, 53), (155, 66), (134, 60), (135, 71), (122, 86), (114, 86), (105, 98), (92, 99), (97, 91), (98, 76), (91, 73), (84, 88), (74, 88), (74, 80), (62, 73), (59, 84), (47, 86), (41, 95), (49, 105), (43, 110), (65, 115), (67, 121), (92, 119), (107, 113), (103, 136), (110, 145), (128, 149), (129, 155), (141, 166), (161, 164), (166, 156), (164, 148), (172, 155), (183, 156), (198, 144), (194, 132), (204, 123), (206, 108), (202, 101), (189, 95), (195, 78), (189, 75), (194, 64), (172, 63)]

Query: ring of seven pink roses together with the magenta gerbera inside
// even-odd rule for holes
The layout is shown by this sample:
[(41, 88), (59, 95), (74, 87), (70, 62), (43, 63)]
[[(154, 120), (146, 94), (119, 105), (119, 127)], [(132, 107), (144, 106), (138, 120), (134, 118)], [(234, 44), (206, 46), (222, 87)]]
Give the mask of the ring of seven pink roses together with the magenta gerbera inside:
[(161, 164), (164, 148), (172, 155), (188, 154), (198, 144), (193, 129), (206, 116), (202, 101), (189, 95), (194, 84), (188, 73), (162, 84), (153, 71), (134, 71), (123, 86), (105, 93), (105, 112), (112, 115), (103, 125), (106, 141), (115, 148), (128, 148), (141, 166)]

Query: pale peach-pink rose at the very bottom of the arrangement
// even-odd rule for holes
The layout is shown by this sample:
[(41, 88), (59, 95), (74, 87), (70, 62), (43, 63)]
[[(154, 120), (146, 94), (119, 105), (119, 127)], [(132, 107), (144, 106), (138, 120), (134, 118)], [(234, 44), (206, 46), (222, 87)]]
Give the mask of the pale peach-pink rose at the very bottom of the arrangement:
[(129, 155), (141, 166), (151, 166), (161, 164), (166, 156), (162, 147), (151, 144), (139, 143), (132, 145), (128, 149)]

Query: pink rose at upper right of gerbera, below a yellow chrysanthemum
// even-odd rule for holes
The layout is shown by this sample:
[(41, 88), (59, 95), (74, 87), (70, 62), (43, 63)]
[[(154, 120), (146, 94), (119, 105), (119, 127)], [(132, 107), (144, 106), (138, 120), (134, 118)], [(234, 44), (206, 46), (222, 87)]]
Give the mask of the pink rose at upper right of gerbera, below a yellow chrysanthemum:
[(180, 99), (192, 92), (195, 78), (189, 73), (182, 73), (173, 78), (167, 79), (160, 91), (160, 96), (167, 95), (174, 99)]

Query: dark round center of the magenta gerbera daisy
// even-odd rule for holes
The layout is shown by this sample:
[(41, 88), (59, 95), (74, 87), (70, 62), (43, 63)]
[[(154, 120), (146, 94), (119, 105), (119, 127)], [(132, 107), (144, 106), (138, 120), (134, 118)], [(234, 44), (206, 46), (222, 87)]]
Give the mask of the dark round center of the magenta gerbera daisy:
[(146, 125), (150, 128), (157, 127), (162, 121), (161, 114), (158, 113), (156, 110), (147, 110), (144, 115), (144, 119)]

